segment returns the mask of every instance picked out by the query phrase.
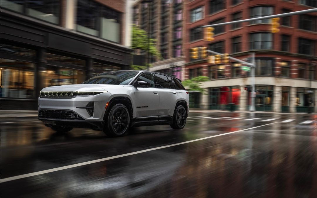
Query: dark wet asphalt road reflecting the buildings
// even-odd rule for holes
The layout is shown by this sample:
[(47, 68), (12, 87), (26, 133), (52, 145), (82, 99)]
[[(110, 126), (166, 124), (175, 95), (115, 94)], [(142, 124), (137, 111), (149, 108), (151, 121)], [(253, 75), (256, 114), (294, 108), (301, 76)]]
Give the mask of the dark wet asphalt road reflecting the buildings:
[(316, 114), (190, 113), (183, 130), (120, 138), (36, 119), (0, 129), (1, 197), (317, 197)]

